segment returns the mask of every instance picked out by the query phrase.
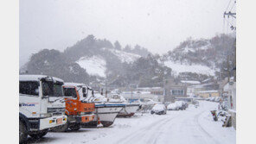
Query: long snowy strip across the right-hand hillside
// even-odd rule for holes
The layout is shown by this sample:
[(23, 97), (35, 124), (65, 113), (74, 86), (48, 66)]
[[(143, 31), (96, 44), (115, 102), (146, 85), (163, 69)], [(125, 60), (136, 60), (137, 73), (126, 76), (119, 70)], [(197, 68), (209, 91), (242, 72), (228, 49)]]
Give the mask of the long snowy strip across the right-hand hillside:
[(175, 63), (173, 61), (165, 61), (164, 62), (165, 66), (168, 66), (172, 69), (174, 72), (196, 72), (196, 73), (201, 73), (201, 74), (207, 74), (214, 76), (214, 70), (209, 68), (208, 66), (202, 66), (202, 65), (186, 65), (186, 64), (180, 64), (180, 63)]

